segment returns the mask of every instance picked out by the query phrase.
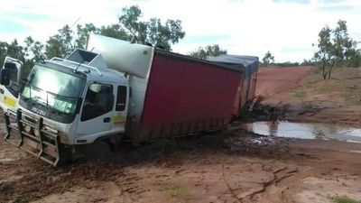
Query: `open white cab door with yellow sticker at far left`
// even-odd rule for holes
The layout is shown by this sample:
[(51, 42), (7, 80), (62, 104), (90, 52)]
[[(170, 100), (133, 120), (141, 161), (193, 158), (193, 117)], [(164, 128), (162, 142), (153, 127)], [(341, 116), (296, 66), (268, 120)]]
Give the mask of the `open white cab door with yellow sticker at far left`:
[(9, 77), (10, 82), (0, 85), (0, 107), (5, 112), (7, 109), (15, 111), (19, 103), (20, 81), (23, 79), (23, 62), (6, 57), (1, 72), (1, 77)]

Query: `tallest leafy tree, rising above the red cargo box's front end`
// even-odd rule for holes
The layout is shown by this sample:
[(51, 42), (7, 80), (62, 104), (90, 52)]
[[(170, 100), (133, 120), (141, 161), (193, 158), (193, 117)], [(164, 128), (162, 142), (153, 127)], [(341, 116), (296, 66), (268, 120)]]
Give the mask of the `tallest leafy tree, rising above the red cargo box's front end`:
[(178, 43), (185, 36), (180, 20), (167, 20), (162, 23), (159, 18), (151, 18), (149, 22), (140, 21), (142, 11), (136, 5), (125, 7), (122, 12), (119, 24), (125, 28), (129, 36), (127, 40), (135, 37), (137, 42), (161, 45), (164, 50), (171, 51), (171, 44)]

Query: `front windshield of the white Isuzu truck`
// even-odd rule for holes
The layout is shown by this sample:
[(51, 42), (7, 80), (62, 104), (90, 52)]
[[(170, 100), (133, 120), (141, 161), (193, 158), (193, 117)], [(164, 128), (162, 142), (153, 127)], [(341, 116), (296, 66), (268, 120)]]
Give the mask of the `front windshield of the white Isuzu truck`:
[(24, 85), (22, 96), (63, 113), (73, 114), (85, 79), (35, 65)]

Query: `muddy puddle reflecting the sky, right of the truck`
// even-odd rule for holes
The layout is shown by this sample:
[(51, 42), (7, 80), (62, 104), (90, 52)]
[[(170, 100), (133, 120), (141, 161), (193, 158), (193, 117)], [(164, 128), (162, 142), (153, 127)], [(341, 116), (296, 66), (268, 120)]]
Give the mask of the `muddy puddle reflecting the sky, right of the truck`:
[(361, 126), (334, 125), (334, 124), (306, 124), (279, 122), (255, 122), (243, 124), (246, 131), (255, 134), (277, 137), (294, 137), (301, 139), (339, 140), (361, 143)]

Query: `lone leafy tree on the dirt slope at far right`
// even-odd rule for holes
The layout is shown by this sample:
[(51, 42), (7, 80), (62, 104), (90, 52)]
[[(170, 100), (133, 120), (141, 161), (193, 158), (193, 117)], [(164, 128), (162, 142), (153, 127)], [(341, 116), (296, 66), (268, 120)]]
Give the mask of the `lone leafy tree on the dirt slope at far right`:
[(358, 66), (361, 63), (360, 51), (356, 51), (356, 42), (347, 33), (346, 21), (339, 20), (335, 30), (328, 25), (319, 32), (318, 51), (314, 60), (321, 69), (324, 79), (331, 78), (335, 66)]

